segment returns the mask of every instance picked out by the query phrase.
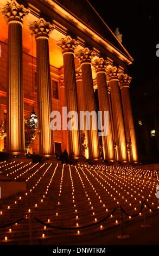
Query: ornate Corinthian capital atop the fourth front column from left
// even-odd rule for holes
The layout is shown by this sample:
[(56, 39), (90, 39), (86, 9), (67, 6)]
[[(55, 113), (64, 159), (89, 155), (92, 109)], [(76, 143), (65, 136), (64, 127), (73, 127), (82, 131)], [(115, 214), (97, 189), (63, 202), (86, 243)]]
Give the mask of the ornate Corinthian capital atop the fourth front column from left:
[(91, 51), (89, 48), (84, 48), (83, 50), (80, 50), (75, 54), (75, 56), (78, 57), (80, 63), (91, 63), (92, 57), (94, 57), (93, 51)]

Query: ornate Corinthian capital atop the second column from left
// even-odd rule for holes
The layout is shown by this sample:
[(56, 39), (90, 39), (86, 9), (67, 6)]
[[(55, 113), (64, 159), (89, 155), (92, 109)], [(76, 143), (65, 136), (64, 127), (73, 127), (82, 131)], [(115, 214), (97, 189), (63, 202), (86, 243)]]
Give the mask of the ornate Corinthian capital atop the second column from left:
[(31, 31), (35, 34), (35, 38), (39, 38), (40, 36), (49, 38), (49, 33), (53, 31), (54, 28), (54, 25), (45, 21), (43, 18), (40, 18), (38, 21), (34, 21), (30, 26)]

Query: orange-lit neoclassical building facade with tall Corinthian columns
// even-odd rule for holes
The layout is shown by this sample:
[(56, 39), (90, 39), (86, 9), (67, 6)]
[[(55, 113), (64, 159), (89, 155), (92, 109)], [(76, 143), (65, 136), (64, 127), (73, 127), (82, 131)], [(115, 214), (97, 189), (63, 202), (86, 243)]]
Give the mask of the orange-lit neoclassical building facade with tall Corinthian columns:
[[(80, 3), (78, 3), (80, 2)], [(137, 162), (137, 146), (129, 95), (130, 54), (88, 1), (1, 1), (0, 103), (7, 120), (8, 153), (24, 151), (24, 118), (34, 106), (40, 134), (32, 150), (53, 155), (57, 150), (99, 159), (98, 131), (50, 129), (50, 113), (109, 112), (103, 136), (104, 159)]]

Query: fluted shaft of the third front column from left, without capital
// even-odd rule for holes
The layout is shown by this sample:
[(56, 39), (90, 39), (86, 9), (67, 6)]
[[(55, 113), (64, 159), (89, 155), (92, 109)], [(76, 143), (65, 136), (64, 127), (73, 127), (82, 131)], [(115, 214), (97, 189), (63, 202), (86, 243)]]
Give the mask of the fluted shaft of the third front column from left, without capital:
[[(77, 108), (77, 88), (75, 81), (75, 66), (74, 66), (74, 54), (71, 52), (63, 53), (63, 68), (64, 68), (64, 82), (65, 82), (65, 94), (67, 102), (67, 111), (78, 112)], [(76, 156), (79, 156), (79, 131), (68, 130), (68, 152), (74, 152)]]

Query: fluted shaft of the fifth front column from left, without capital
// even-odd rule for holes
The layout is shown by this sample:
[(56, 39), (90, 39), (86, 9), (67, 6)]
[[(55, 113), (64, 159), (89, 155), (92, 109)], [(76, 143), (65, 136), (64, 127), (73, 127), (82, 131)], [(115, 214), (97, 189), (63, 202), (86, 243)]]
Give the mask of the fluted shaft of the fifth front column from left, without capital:
[(112, 138), (112, 129), (111, 129), (109, 99), (108, 99), (107, 87), (106, 87), (106, 72), (98, 71), (98, 70), (96, 72), (97, 72), (97, 84), (98, 84), (99, 110), (102, 112), (103, 122), (105, 120), (104, 112), (105, 111), (109, 112), (109, 126), (108, 126), (109, 132), (107, 136), (102, 136), (104, 159), (113, 161), (114, 150), (113, 150), (113, 138)]

